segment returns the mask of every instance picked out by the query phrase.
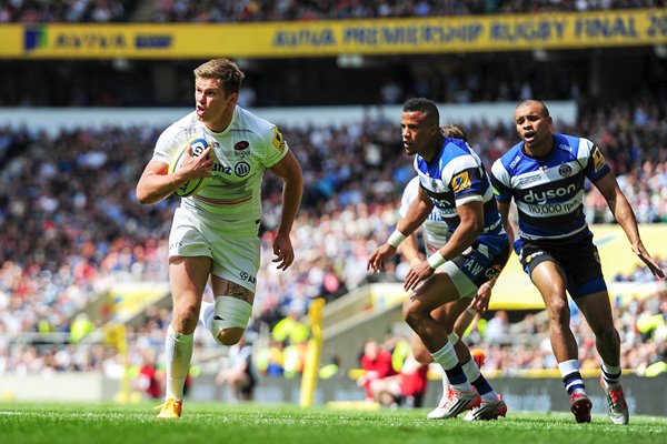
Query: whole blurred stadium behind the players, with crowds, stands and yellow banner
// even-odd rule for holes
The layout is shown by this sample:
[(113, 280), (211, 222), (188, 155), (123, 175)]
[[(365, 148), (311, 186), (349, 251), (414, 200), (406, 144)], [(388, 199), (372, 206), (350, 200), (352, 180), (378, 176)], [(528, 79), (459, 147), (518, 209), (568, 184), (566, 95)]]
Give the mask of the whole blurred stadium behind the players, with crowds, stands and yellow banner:
[[(192, 109), (192, 70), (215, 57), (245, 71), (239, 104), (279, 125), (306, 192), (292, 232), (297, 259), (282, 273), (269, 248), (280, 183), (263, 182), (265, 249), (246, 345), (255, 390), (246, 396), (226, 382), (235, 360), (198, 329), (195, 400), (295, 401), (312, 337), (308, 310), (320, 297), (316, 403), (364, 398), (355, 380), (370, 339), (396, 354), (400, 372), (407, 264), (397, 256), (386, 274), (368, 275), (366, 261), (394, 230), (414, 175), (399, 128), (411, 97), (438, 102), (441, 123), (464, 125), (488, 167), (518, 141), (518, 101), (544, 100), (559, 132), (601, 147), (666, 269), (666, 3), (1, 1), (0, 396), (161, 396), (167, 236), (179, 200), (141, 206), (135, 186), (159, 133)], [(595, 189), (586, 212), (630, 408), (667, 414), (665, 400), (636, 402), (667, 377), (665, 282), (635, 260)], [(482, 371), (510, 408), (566, 410), (544, 305), (516, 256), (490, 309), (465, 340), (486, 353)], [(594, 336), (571, 310), (586, 375), (598, 377)], [(426, 405), (441, 390), (436, 373)], [(539, 391), (536, 377), (546, 381)]]

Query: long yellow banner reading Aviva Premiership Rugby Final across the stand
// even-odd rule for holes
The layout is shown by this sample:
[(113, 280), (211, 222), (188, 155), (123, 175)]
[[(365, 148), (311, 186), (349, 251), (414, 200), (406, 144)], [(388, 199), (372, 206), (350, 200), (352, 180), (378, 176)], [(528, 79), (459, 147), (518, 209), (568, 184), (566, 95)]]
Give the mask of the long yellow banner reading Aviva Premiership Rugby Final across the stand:
[(276, 58), (661, 44), (667, 9), (267, 23), (3, 24), (0, 58)]

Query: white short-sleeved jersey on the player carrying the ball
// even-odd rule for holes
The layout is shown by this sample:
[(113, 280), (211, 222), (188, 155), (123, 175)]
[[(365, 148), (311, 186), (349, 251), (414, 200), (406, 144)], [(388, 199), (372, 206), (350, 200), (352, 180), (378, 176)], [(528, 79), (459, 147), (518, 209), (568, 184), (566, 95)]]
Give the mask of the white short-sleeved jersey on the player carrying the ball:
[(261, 218), (261, 180), (289, 148), (275, 124), (236, 107), (222, 132), (206, 128), (191, 112), (160, 134), (152, 160), (170, 163), (195, 138), (212, 147), (216, 159), (211, 178), (193, 196), (181, 199), (181, 208), (216, 230), (238, 238), (257, 235)]

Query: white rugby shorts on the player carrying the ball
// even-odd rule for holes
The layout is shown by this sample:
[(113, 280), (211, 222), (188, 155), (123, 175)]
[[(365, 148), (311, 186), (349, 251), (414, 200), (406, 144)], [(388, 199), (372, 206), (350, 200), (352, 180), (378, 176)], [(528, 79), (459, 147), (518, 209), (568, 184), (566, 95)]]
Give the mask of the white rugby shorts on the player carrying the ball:
[(261, 242), (259, 238), (230, 239), (197, 215), (176, 209), (169, 233), (169, 258), (211, 258), (212, 274), (235, 282), (255, 294)]

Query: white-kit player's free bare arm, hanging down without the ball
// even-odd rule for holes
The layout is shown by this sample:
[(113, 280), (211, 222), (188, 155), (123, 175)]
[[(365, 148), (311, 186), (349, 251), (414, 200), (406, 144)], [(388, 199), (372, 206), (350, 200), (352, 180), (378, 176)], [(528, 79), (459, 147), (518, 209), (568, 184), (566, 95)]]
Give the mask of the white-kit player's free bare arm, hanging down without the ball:
[(280, 214), (280, 225), (273, 240), (272, 262), (278, 264), (278, 270), (287, 270), (295, 261), (295, 251), (289, 239), (297, 211), (301, 204), (303, 194), (303, 176), (301, 167), (291, 151), (270, 168), (271, 172), (282, 179), (282, 213)]

